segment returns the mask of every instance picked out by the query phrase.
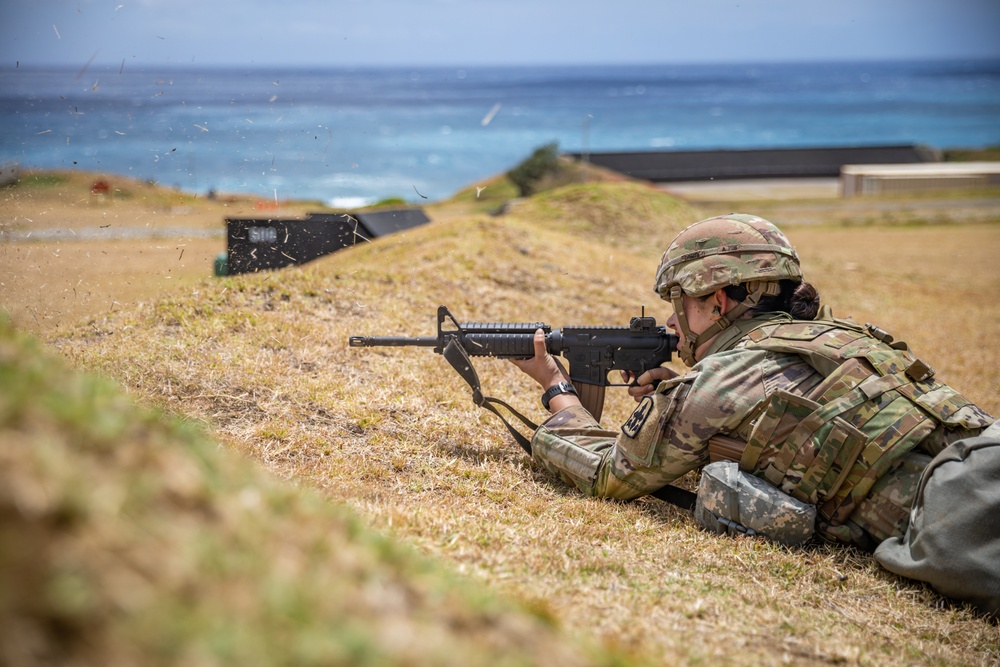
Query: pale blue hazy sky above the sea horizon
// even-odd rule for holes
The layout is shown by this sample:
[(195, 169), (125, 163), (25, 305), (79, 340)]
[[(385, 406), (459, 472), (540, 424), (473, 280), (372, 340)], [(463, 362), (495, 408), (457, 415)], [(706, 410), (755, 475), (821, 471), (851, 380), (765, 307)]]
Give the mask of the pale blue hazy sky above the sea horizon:
[(1000, 0), (0, 0), (0, 68), (1000, 57)]

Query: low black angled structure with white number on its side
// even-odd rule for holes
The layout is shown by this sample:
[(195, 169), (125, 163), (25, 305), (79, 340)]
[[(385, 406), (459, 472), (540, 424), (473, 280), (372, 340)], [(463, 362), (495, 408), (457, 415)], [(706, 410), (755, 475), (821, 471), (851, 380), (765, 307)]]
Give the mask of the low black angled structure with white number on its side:
[(421, 209), (310, 213), (301, 218), (226, 218), (225, 268), (238, 274), (304, 264), (342, 248), (430, 222)]

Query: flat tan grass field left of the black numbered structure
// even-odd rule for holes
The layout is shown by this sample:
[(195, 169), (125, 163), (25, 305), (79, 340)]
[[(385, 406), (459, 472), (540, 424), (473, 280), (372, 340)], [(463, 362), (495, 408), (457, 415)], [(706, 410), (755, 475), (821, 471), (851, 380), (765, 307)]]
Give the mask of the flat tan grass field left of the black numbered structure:
[[(92, 193), (98, 180), (107, 194)], [(133, 308), (211, 275), (226, 217), (322, 210), (245, 195), (209, 200), (116, 175), (27, 172), (0, 188), (0, 308), (35, 333)], [(14, 234), (24, 240), (4, 242)]]

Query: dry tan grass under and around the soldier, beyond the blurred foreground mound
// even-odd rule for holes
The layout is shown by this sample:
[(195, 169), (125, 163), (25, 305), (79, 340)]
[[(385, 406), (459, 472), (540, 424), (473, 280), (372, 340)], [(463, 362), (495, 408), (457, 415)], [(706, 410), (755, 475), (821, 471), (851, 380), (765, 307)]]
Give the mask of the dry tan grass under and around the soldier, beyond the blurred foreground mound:
[[(579, 201), (550, 196), (546, 206), (580, 210)], [(280, 477), (545, 610), (570, 637), (660, 664), (1000, 660), (996, 625), (864, 554), (718, 538), (655, 500), (581, 497), (533, 466), (440, 357), (347, 347), (352, 334), (429, 335), (441, 303), (464, 320), (615, 324), (642, 305), (662, 320), (651, 289), (661, 239), (692, 211), (651, 191), (622, 205), (674, 213), (646, 243), (614, 211), (585, 229), (558, 214), (540, 225), (538, 201), (502, 218), (453, 216), (305, 267), (175, 288), (49, 340), (144, 402), (204, 420)], [(897, 333), (1000, 413), (1000, 226), (775, 221), (837, 314)], [(542, 417), (512, 366), (478, 369), (487, 393)], [(605, 422), (629, 407), (615, 393)]]

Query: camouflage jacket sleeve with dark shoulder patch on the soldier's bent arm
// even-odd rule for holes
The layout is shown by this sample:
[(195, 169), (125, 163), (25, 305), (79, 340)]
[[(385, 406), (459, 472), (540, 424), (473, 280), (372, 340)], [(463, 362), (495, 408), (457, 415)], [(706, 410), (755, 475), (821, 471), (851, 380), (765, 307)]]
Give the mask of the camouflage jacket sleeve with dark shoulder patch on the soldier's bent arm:
[(536, 461), (581, 491), (631, 499), (708, 463), (708, 440), (735, 430), (777, 387), (815, 382), (794, 355), (736, 349), (661, 382), (621, 425), (602, 428), (582, 407), (557, 412), (532, 439)]

